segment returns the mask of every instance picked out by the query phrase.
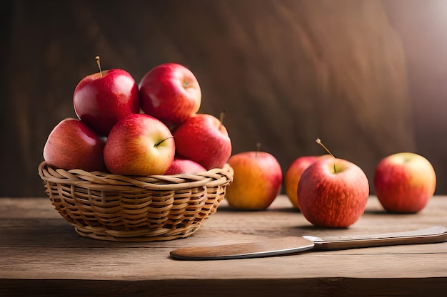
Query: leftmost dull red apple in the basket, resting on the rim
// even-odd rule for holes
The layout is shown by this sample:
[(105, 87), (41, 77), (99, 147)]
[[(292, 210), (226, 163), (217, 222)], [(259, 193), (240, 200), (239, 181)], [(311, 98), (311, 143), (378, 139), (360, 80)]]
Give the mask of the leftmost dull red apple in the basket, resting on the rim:
[(51, 130), (44, 146), (44, 160), (63, 170), (106, 171), (105, 142), (81, 120), (66, 118)]

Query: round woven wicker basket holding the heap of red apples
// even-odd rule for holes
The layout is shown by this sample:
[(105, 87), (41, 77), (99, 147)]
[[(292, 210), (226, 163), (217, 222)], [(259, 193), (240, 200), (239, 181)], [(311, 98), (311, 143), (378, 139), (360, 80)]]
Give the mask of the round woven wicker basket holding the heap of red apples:
[(39, 165), (51, 203), (78, 234), (109, 241), (166, 241), (193, 234), (233, 181), (227, 164), (199, 174), (125, 176)]

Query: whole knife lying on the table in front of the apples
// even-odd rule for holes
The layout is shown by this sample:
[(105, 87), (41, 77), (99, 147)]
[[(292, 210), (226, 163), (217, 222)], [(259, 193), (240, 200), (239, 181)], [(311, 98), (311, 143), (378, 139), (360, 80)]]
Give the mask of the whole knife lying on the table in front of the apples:
[(300, 251), (357, 249), (373, 246), (401, 244), (434, 244), (447, 241), (447, 228), (433, 226), (428, 229), (375, 234), (368, 236), (291, 236), (280, 239), (218, 246), (191, 246), (174, 249), (170, 256), (181, 260), (247, 259), (280, 256)]

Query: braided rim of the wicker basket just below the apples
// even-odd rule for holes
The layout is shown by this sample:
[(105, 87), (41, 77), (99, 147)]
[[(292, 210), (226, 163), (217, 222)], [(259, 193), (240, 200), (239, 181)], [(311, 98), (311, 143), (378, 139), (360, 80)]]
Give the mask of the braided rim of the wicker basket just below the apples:
[(74, 185), (89, 189), (152, 189), (175, 191), (194, 187), (216, 187), (233, 181), (233, 169), (228, 163), (222, 168), (214, 168), (198, 174), (131, 176), (112, 174), (110, 172), (87, 172), (84, 170), (63, 170), (48, 165), (46, 161), (39, 164), (39, 176), (44, 182)]

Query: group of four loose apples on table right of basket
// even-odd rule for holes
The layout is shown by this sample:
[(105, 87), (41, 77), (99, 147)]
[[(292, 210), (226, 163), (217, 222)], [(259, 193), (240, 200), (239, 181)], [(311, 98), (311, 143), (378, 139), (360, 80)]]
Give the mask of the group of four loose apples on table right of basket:
[[(317, 143), (321, 143), (319, 138)], [(298, 157), (291, 162), (283, 184), (293, 207), (315, 226), (346, 228), (361, 217), (369, 182), (358, 165), (328, 155)], [(241, 152), (229, 158), (234, 171), (226, 199), (231, 207), (267, 209), (281, 188), (281, 166), (268, 152)], [(373, 181), (378, 201), (387, 212), (413, 214), (428, 204), (436, 189), (431, 163), (413, 152), (384, 157)]]

